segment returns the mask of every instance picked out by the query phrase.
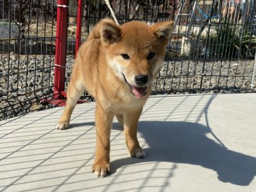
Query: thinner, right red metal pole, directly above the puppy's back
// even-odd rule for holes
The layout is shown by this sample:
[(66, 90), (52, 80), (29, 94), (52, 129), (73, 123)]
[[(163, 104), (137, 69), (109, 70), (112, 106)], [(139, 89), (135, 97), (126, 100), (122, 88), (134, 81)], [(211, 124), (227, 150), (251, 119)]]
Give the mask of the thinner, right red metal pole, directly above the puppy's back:
[(78, 53), (78, 48), (81, 45), (81, 29), (82, 29), (82, 0), (78, 0), (77, 33), (76, 33), (76, 39), (75, 39), (75, 58)]

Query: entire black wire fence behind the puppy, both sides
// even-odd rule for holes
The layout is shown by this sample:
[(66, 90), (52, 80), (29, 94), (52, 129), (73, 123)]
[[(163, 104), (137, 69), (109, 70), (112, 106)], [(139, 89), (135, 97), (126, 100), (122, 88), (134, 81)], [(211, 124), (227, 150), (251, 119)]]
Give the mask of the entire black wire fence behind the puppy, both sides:
[[(154, 92), (254, 92), (256, 1), (110, 1), (120, 24), (174, 20)], [(53, 90), (53, 0), (0, 0), (0, 119), (42, 110)], [(65, 84), (74, 63), (77, 2), (69, 1)], [(105, 1), (84, 1), (82, 41)]]

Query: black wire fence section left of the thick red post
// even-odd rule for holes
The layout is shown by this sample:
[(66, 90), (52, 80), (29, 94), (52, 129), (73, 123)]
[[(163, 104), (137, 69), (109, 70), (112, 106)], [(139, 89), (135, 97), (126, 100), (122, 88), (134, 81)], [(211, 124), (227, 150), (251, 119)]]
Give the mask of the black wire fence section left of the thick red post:
[(0, 1), (0, 119), (42, 109), (53, 87), (54, 1)]

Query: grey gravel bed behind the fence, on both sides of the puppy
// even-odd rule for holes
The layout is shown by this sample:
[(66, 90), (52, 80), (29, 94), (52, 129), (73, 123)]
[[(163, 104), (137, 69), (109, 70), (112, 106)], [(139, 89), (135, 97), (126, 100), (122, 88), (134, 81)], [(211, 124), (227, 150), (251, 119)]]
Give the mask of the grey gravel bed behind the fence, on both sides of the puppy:
[[(0, 120), (55, 107), (40, 102), (43, 95), (52, 93), (54, 60), (53, 55), (0, 55)], [(73, 63), (73, 56), (68, 56), (65, 86)], [(253, 60), (206, 61), (204, 65), (192, 60), (165, 62), (153, 82), (153, 94), (256, 92), (250, 89), (253, 64)]]

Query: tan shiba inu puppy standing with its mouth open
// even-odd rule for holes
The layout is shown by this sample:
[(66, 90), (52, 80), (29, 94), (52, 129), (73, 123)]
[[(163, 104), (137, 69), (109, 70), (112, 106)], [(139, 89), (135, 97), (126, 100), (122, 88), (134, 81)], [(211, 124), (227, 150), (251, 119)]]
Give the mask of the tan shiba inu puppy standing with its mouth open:
[(137, 139), (137, 124), (151, 94), (151, 82), (159, 72), (173, 28), (172, 21), (148, 26), (139, 21), (117, 26), (103, 19), (80, 46), (68, 85), (68, 100), (56, 129), (67, 129), (82, 92), (96, 100), (96, 156), (92, 171), (110, 171), (110, 131), (117, 117), (124, 127), (130, 156), (144, 158)]

